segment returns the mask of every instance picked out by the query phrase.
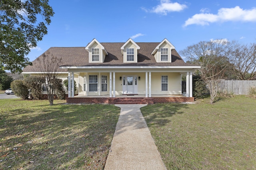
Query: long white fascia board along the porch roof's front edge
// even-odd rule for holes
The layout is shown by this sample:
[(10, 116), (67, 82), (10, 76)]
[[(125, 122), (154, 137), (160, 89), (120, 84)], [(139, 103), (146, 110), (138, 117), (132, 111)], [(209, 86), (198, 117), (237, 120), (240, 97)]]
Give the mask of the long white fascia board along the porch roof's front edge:
[(60, 68), (71, 68), (71, 69), (81, 69), (81, 68), (201, 68), (201, 66), (61, 66)]

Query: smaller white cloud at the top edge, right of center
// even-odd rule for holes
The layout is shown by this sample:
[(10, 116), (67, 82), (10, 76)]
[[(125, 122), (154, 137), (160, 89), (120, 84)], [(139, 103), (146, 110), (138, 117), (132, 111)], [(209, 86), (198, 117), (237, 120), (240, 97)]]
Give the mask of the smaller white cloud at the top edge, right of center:
[(170, 0), (160, 0), (160, 4), (153, 7), (152, 10), (141, 8), (145, 12), (153, 12), (156, 14), (167, 15), (168, 12), (179, 12), (187, 8), (185, 4), (179, 4), (178, 2), (170, 2)]

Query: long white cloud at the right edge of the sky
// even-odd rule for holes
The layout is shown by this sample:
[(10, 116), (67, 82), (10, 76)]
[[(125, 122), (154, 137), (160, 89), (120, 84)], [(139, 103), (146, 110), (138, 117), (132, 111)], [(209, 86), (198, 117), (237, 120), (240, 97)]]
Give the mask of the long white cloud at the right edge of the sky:
[[(203, 10), (201, 10), (203, 12)], [(218, 14), (195, 14), (191, 18), (185, 21), (184, 27), (192, 24), (196, 25), (209, 25), (214, 22), (227, 22), (227, 21), (256, 21), (256, 8), (251, 10), (243, 10), (239, 6), (235, 8), (220, 8)]]

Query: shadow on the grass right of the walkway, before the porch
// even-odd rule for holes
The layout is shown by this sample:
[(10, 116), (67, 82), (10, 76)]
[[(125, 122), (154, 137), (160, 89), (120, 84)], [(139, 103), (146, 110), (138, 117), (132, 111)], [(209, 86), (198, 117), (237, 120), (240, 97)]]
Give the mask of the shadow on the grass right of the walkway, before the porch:
[(153, 104), (140, 109), (148, 127), (152, 125), (161, 127), (171, 121), (170, 119), (167, 119), (168, 117), (184, 113), (183, 111), (180, 111), (181, 108), (187, 108), (187, 104)]

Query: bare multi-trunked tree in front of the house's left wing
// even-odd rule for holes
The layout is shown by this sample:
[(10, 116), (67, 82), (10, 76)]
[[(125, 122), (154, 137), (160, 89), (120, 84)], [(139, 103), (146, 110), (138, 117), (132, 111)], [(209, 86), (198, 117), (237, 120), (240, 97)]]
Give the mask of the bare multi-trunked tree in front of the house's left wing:
[(50, 105), (53, 105), (54, 94), (56, 94), (56, 90), (59, 87), (58, 72), (60, 72), (59, 64), (61, 60), (61, 58), (57, 58), (51, 53), (44, 53), (33, 63), (38, 69), (36, 72), (44, 79), (44, 86), (46, 87)]

